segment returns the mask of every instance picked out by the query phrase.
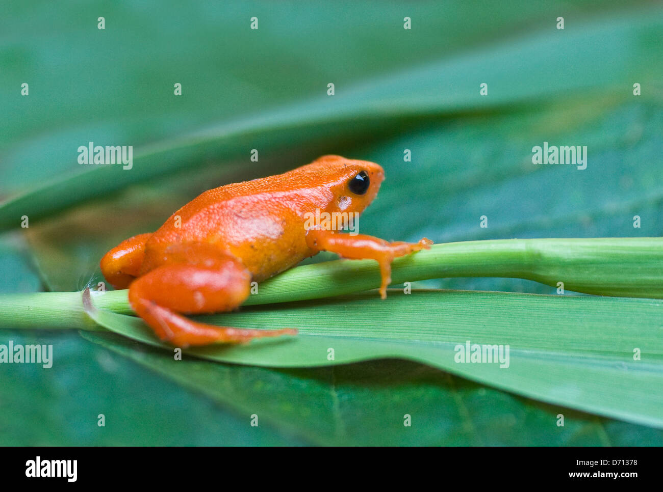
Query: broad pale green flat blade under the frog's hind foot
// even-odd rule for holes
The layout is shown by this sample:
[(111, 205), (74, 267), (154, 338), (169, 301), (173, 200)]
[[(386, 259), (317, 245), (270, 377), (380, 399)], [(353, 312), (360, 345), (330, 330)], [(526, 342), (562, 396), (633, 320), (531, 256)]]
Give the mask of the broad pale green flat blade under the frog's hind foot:
[[(406, 358), (541, 401), (663, 427), (660, 301), (397, 292), (391, 291), (388, 301), (367, 293), (206, 317), (227, 326), (289, 326), (300, 334), (186, 352), (219, 362), (290, 368)], [(172, 350), (141, 319), (91, 308), (88, 313), (113, 332)], [(467, 341), (509, 345), (509, 364), (458, 363), (457, 347)]]

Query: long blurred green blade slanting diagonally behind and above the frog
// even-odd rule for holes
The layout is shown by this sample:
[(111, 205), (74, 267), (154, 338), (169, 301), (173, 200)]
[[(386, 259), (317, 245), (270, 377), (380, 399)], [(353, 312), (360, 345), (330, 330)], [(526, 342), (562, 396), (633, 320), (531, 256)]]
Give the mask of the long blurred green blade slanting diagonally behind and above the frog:
[[(654, 38), (662, 25), (660, 12), (646, 15), (637, 12), (627, 18), (589, 22), (559, 38), (528, 36), (475, 56), (428, 62), (421, 68), (409, 68), (348, 87), (339, 97), (327, 97), (321, 87), (321, 95), (309, 101), (242, 116), (145, 146), (136, 152), (130, 170), (121, 166), (95, 166), (31, 189), (0, 207), (0, 230), (19, 226), (22, 215), (38, 221), (80, 201), (189, 168), (215, 156), (238, 158), (251, 148), (258, 135), (261, 148), (275, 152), (286, 144), (310, 145), (322, 140), (347, 139), (358, 133), (375, 136), (403, 119), (486, 111), (560, 92), (600, 88), (618, 94), (617, 88), (629, 81), (634, 70), (647, 81), (660, 74), (660, 64), (650, 63), (652, 57), (660, 58), (660, 53), (653, 44), (642, 40)], [(577, 50), (577, 46), (593, 46), (593, 50)], [(560, 52), (564, 55), (560, 56)], [(569, 70), (579, 66), (580, 72)], [(551, 73), (556, 76), (550, 77)], [(479, 95), (479, 79), (491, 83), (493, 97)], [(73, 156), (77, 155), (74, 148), (78, 149), (80, 144), (72, 144)]]

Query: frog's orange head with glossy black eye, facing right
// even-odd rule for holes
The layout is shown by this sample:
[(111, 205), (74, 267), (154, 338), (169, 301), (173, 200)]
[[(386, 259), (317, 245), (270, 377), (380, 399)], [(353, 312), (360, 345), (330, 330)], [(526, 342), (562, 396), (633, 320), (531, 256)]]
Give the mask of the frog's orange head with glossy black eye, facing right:
[(385, 179), (382, 166), (341, 156), (322, 156), (308, 166), (320, 173), (320, 184), (333, 193), (330, 211), (362, 213)]

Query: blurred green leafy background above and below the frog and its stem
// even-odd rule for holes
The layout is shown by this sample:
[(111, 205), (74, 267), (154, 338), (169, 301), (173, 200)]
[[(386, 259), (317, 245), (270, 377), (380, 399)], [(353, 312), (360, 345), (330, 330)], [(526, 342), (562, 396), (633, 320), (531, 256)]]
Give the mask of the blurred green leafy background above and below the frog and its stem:
[[(1, 291), (82, 289), (101, 279), (106, 250), (154, 230), (205, 189), (327, 153), (385, 167), (361, 228), (387, 239), (662, 235), (660, 3), (3, 7)], [(479, 95), (484, 82), (487, 96)], [(90, 141), (132, 145), (133, 169), (80, 166), (78, 146)], [(587, 169), (534, 166), (532, 146), (544, 141), (586, 145)], [(259, 162), (249, 159), (253, 148)], [(30, 227), (19, 232), (22, 215)], [(479, 227), (482, 215), (488, 228)], [(554, 293), (516, 279), (416, 286)], [(413, 362), (284, 370), (185, 361), (173, 374), (160, 352), (119, 339), (3, 330), (0, 343), (7, 340), (53, 344), (57, 359), (48, 370), (0, 368), (5, 445), (663, 441), (659, 429)], [(418, 425), (385, 424), (404, 406)], [(558, 413), (564, 428), (554, 425)]]

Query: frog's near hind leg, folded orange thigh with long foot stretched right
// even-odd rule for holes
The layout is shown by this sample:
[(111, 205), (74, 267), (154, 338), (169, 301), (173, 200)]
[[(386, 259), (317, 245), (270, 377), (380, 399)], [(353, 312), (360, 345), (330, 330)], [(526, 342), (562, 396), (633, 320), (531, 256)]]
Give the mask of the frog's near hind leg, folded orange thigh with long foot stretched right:
[(296, 334), (296, 330), (250, 330), (213, 326), (178, 313), (231, 311), (249, 296), (251, 274), (239, 260), (202, 246), (187, 246), (170, 262), (139, 277), (129, 287), (129, 303), (154, 333), (175, 346), (247, 342)]

